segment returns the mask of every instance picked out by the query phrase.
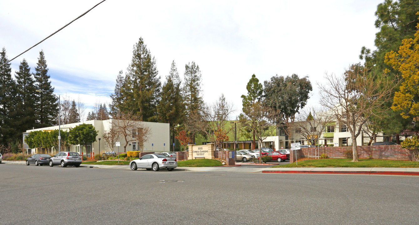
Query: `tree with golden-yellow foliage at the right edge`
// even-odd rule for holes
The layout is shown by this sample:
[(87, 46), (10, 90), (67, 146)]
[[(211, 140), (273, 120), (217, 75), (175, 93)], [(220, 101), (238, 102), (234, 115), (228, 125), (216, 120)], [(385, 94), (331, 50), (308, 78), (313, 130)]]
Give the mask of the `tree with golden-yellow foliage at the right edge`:
[(419, 115), (419, 23), (416, 28), (418, 31), (414, 39), (403, 39), (398, 52), (385, 54), (385, 63), (400, 71), (403, 77), (400, 91), (395, 93), (391, 108), (394, 111), (409, 110), (401, 113), (405, 119)]

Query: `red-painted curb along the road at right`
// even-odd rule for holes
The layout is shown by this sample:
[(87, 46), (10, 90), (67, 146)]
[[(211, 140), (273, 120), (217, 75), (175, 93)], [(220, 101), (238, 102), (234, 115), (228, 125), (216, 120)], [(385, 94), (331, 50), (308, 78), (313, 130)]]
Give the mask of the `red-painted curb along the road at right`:
[(403, 175), (419, 176), (419, 172), (407, 171), (298, 171), (298, 170), (264, 170), (262, 173), (269, 174), (363, 174), (363, 175)]

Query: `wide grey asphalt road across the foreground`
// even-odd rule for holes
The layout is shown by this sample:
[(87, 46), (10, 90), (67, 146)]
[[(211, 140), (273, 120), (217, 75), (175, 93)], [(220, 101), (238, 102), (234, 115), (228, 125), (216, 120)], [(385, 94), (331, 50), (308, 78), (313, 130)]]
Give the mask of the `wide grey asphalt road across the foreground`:
[(0, 164), (0, 224), (417, 224), (419, 177)]

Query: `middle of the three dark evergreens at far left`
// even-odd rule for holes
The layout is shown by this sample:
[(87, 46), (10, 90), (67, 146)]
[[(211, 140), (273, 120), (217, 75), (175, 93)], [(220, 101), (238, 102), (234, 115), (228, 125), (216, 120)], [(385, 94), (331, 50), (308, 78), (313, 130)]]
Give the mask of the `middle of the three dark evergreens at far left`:
[(21, 138), (21, 133), (36, 126), (35, 116), (35, 80), (31, 73), (28, 62), (23, 59), (16, 72), (16, 128), (18, 133), (16, 138)]

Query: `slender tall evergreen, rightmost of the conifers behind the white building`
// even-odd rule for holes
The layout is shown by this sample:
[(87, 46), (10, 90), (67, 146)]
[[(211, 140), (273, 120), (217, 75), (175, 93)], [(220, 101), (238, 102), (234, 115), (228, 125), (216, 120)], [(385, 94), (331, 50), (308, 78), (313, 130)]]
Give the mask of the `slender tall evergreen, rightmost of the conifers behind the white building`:
[[(185, 65), (184, 101), (186, 104), (186, 118), (189, 119), (193, 112), (199, 111), (204, 104), (201, 96), (201, 71), (199, 66), (192, 63)], [(191, 133), (192, 143), (195, 142), (195, 134)]]

